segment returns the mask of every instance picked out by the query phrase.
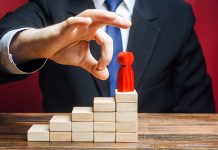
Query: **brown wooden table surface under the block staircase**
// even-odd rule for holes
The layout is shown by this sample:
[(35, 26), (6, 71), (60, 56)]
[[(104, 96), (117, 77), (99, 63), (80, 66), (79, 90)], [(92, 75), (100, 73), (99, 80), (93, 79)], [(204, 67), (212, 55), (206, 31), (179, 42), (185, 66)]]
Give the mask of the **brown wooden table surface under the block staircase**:
[(218, 149), (218, 114), (139, 114), (138, 143), (27, 142), (51, 113), (0, 114), (0, 149)]

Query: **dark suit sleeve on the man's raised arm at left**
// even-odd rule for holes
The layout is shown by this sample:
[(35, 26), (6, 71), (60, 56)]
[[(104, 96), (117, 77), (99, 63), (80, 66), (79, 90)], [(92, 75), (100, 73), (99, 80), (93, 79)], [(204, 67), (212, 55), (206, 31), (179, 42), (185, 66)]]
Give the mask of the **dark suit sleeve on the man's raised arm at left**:
[[(42, 28), (48, 26), (47, 0), (30, 0), (15, 12), (8, 13), (0, 21), (0, 39), (9, 31), (20, 28)], [(3, 60), (1, 60), (2, 62)], [(18, 66), (24, 72), (33, 72), (45, 63), (45, 59), (38, 59)], [(1, 63), (0, 63), (1, 64)], [(0, 66), (0, 84), (21, 80), (29, 75), (13, 75), (5, 71), (4, 66)]]

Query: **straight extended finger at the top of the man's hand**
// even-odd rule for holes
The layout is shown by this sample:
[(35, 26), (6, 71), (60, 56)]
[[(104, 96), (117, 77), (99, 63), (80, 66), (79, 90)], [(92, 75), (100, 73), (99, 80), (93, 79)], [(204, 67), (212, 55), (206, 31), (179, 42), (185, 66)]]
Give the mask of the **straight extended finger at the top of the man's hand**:
[(98, 24), (101, 24), (101, 26), (107, 24), (119, 28), (129, 28), (132, 24), (129, 19), (125, 19), (116, 15), (114, 12), (109, 12), (106, 10), (89, 9), (82, 12), (78, 16), (90, 17), (93, 22), (98, 22)]

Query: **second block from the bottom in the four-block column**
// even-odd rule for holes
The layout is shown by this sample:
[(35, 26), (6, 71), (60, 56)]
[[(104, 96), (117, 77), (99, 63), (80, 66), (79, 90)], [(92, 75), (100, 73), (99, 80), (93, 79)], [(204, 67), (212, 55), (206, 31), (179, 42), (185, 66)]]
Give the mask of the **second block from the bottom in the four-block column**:
[(115, 122), (94, 122), (94, 131), (115, 132), (115, 126)]

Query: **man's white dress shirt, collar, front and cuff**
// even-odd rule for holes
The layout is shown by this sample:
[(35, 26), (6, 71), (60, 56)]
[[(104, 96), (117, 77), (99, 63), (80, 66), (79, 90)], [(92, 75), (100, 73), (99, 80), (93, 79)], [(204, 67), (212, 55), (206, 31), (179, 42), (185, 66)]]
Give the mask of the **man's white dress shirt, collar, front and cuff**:
[[(93, 0), (95, 8), (107, 10), (107, 7), (104, 4), (104, 1), (105, 0)], [(131, 20), (134, 6), (135, 6), (135, 0), (123, 0), (123, 2), (117, 7), (115, 13), (123, 18), (127, 18), (127, 19)], [(24, 71), (20, 70), (17, 67), (17, 65), (15, 64), (15, 62), (13, 61), (13, 56), (10, 53), (10, 44), (11, 44), (13, 37), (18, 32), (26, 30), (26, 29), (28, 29), (28, 27), (9, 31), (0, 40), (0, 57), (1, 57), (0, 64), (1, 64), (1, 66), (4, 67), (3, 69), (9, 73), (12, 73), (12, 74), (30, 74), (30, 73), (33, 73), (33, 72), (24, 72)], [(105, 30), (105, 27), (103, 27), (103, 29)], [(127, 49), (129, 30), (130, 29), (121, 29), (121, 37), (122, 37), (124, 51), (126, 51), (126, 49)], [(42, 65), (40, 68), (36, 69), (35, 71), (38, 71), (43, 66), (44, 65)]]

